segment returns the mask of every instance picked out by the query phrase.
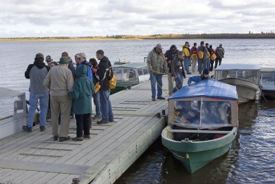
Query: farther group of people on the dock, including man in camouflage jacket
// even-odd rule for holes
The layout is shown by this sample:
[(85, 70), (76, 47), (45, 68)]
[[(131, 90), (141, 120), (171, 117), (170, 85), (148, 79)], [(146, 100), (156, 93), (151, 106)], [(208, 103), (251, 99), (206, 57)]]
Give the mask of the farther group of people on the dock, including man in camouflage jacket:
[[(217, 68), (218, 63), (221, 65), (225, 53), (222, 44), (219, 44), (219, 47), (214, 50), (212, 45), (204, 44), (204, 41), (201, 41), (198, 48), (197, 43), (194, 43), (190, 49), (190, 44), (186, 41), (182, 46), (182, 51), (177, 50), (176, 45), (171, 45), (165, 53), (162, 52), (162, 49), (162, 45), (158, 43), (147, 57), (152, 101), (155, 101), (156, 95), (157, 99), (165, 99), (162, 96), (162, 75), (168, 74), (168, 91), (169, 95), (172, 95), (182, 87), (186, 74), (196, 72), (197, 64), (197, 70), (201, 76), (199, 76), (200, 78), (194, 78), (194, 80), (207, 79), (209, 71)], [(190, 65), (192, 65), (192, 72), (189, 70)], [(155, 90), (156, 83), (157, 93)]]

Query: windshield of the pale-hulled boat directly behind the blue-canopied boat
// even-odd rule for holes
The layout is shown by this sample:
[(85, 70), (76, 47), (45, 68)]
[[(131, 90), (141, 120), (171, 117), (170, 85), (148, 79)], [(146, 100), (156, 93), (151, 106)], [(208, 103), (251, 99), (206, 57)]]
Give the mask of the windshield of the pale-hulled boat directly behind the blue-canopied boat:
[(216, 71), (215, 79), (237, 78), (259, 83), (258, 70), (219, 70)]

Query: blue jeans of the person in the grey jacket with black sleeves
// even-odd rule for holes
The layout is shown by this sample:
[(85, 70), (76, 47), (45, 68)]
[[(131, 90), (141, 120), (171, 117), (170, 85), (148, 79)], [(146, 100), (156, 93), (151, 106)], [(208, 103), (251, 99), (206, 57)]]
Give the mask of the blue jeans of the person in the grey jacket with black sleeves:
[(47, 108), (49, 105), (49, 92), (45, 92), (45, 93), (30, 92), (30, 100), (29, 100), (30, 109), (29, 109), (29, 116), (28, 116), (28, 122), (27, 122), (28, 127), (33, 126), (34, 115), (35, 115), (35, 110), (37, 108), (38, 101), (40, 101), (39, 125), (45, 126), (46, 124)]

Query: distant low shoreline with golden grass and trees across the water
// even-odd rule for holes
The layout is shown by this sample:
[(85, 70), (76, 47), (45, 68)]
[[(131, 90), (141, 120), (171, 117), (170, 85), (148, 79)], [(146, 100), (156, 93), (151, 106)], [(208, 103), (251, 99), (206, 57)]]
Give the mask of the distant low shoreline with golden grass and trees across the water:
[(0, 41), (99, 41), (99, 40), (143, 40), (143, 39), (275, 39), (274, 32), (249, 34), (152, 34), (111, 35), (106, 37), (18, 37), (0, 38)]

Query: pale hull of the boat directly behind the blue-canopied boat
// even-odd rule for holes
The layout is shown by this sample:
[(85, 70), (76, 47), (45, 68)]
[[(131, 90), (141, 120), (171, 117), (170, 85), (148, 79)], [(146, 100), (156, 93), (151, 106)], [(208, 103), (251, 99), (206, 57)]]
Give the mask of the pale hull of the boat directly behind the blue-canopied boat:
[(259, 85), (252, 81), (236, 78), (226, 78), (221, 79), (220, 81), (236, 86), (239, 103), (245, 103), (254, 100), (256, 97), (256, 92), (259, 90)]

